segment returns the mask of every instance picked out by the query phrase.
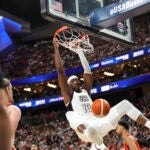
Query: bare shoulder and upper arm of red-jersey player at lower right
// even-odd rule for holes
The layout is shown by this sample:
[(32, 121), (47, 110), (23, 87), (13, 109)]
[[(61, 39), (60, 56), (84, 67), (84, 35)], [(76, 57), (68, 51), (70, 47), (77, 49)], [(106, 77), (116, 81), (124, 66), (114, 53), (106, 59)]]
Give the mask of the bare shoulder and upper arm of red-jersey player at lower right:
[(125, 139), (126, 145), (129, 147), (130, 150), (138, 150), (136, 146), (136, 139), (134, 137), (128, 136)]

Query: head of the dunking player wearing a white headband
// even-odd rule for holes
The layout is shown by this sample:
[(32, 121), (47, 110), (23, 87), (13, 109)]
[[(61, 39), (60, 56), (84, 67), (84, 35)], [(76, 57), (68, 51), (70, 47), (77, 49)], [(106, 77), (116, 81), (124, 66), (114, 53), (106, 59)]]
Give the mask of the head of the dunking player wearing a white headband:
[(67, 83), (70, 85), (70, 87), (76, 91), (79, 92), (80, 91), (80, 86), (81, 83), (79, 81), (79, 78), (75, 75), (72, 75), (68, 78)]

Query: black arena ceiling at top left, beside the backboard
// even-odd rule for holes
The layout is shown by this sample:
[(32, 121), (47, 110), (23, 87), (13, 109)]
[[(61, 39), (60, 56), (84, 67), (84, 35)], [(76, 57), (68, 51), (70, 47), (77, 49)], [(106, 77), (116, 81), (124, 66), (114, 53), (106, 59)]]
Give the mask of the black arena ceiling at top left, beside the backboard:
[(40, 16), (40, 0), (1, 0), (0, 9), (30, 22), (32, 29), (49, 23)]

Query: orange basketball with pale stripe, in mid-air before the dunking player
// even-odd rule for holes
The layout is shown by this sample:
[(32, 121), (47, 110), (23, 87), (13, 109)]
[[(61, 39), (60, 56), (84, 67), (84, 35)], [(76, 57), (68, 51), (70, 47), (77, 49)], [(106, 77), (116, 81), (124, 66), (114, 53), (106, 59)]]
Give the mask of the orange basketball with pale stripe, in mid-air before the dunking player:
[(96, 117), (105, 117), (110, 111), (110, 105), (105, 99), (96, 99), (91, 107)]

